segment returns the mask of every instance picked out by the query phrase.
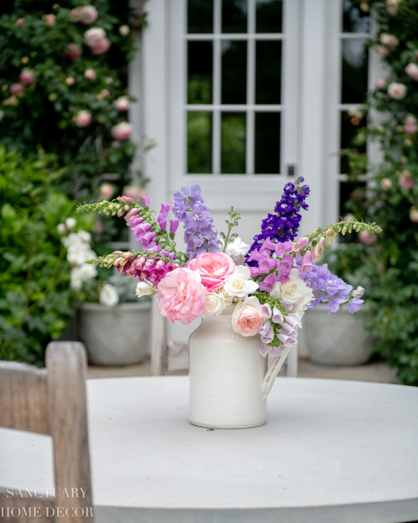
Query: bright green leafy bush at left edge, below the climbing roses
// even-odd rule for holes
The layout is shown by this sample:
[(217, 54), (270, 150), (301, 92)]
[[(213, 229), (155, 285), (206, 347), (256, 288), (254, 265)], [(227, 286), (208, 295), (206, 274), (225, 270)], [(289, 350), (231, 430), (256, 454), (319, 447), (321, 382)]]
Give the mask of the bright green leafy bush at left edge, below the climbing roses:
[(0, 146), (0, 359), (43, 365), (47, 343), (73, 314), (57, 225), (75, 214), (75, 203), (53, 189), (62, 175), (55, 166), (51, 155), (26, 160)]

